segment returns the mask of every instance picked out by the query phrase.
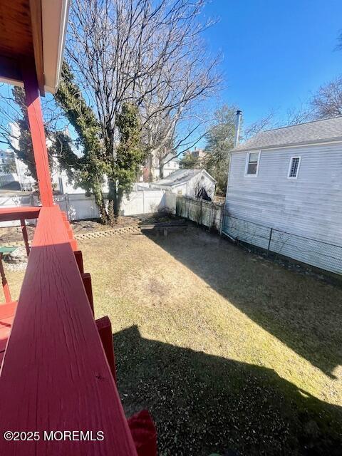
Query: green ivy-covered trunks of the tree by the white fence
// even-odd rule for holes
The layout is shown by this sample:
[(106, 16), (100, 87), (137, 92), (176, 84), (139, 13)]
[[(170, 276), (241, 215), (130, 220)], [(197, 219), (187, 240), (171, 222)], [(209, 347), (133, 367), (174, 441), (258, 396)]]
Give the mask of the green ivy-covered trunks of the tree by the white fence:
[[(93, 110), (87, 105), (65, 62), (55, 99), (75, 128), (77, 143), (83, 152), (81, 157), (77, 157), (68, 151), (68, 154), (61, 157), (61, 165), (71, 173), (76, 185), (94, 195), (103, 223), (113, 224), (120, 213), (123, 195), (130, 193), (140, 165), (146, 158), (141, 145), (138, 108), (131, 103), (123, 103), (115, 122), (118, 144), (108, 146)], [(109, 187), (108, 204), (105, 204), (102, 191), (105, 180)]]

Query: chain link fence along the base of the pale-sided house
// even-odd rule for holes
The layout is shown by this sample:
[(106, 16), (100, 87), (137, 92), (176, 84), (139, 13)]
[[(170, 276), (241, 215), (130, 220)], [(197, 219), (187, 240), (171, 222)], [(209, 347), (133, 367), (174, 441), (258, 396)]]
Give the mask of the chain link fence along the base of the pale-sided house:
[(222, 232), (239, 241), (261, 247), (268, 254), (271, 252), (342, 274), (341, 245), (329, 244), (232, 217), (227, 211), (223, 212)]

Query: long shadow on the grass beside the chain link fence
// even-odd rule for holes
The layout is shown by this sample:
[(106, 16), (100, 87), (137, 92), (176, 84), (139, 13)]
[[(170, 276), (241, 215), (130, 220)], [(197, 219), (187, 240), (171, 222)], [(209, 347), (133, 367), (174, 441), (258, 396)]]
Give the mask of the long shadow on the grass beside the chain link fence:
[(335, 378), (342, 364), (342, 291), (191, 227), (148, 236), (269, 333)]

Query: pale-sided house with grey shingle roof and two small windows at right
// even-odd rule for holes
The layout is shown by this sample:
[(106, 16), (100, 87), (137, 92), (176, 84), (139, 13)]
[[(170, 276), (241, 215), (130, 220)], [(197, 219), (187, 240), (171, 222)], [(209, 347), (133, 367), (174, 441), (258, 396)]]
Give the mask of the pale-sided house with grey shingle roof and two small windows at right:
[[(342, 248), (328, 245), (342, 246), (342, 117), (264, 131), (234, 147), (225, 205), (227, 234), (342, 273)], [(265, 227), (274, 229), (271, 242)]]

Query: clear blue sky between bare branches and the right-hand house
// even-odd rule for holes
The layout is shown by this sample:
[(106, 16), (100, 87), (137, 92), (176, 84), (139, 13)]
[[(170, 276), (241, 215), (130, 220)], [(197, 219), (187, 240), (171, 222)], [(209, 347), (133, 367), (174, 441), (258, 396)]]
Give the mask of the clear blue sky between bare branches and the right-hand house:
[(272, 109), (281, 121), (342, 74), (342, 0), (212, 0), (204, 13), (219, 17), (205, 39), (223, 53), (220, 103), (239, 105), (246, 123)]

